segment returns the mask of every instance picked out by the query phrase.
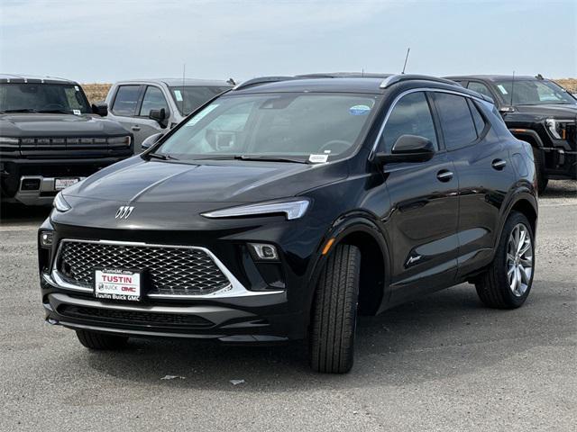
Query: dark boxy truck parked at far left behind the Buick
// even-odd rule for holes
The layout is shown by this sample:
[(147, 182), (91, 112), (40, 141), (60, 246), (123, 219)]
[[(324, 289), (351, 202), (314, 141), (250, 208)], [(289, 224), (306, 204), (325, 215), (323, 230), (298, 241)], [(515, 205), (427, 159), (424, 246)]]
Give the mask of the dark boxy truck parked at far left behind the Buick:
[(2, 202), (50, 204), (61, 189), (133, 155), (133, 135), (103, 119), (74, 81), (0, 75)]

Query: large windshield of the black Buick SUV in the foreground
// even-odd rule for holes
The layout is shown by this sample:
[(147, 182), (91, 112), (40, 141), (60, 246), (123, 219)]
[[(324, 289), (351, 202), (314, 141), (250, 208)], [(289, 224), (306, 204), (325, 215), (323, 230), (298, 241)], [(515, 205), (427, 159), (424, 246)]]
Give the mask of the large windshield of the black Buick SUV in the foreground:
[(189, 119), (155, 153), (178, 159), (287, 157), (325, 162), (355, 148), (377, 97), (310, 93), (224, 96)]

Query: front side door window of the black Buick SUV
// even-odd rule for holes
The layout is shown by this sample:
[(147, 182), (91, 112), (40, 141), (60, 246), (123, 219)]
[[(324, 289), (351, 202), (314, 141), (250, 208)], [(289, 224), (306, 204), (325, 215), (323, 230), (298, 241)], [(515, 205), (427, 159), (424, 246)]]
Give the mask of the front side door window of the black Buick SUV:
[(425, 137), (437, 147), (435, 123), (423, 92), (408, 94), (395, 105), (380, 136), (380, 151), (390, 153), (401, 135)]

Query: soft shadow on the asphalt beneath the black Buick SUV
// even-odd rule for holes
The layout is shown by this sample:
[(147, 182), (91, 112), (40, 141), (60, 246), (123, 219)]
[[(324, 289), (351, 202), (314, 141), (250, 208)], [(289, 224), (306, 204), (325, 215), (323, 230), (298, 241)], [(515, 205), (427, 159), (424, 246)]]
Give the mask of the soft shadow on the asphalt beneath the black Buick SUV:
[[(539, 284), (536, 284), (537, 286)], [(78, 347), (70, 361), (117, 380), (189, 389), (304, 392), (335, 388), (406, 385), (469, 374), (507, 362), (533, 347), (572, 333), (571, 314), (552, 327), (552, 302), (563, 296), (534, 288), (523, 308), (484, 308), (472, 285), (462, 284), (410, 302), (377, 317), (362, 317), (350, 374), (316, 374), (307, 347), (231, 347), (210, 342), (131, 339), (121, 352)], [(572, 302), (571, 293), (565, 302)], [(525, 355), (526, 356), (526, 355)], [(176, 376), (162, 380), (166, 375)], [(183, 377), (183, 378), (180, 378)], [(230, 380), (244, 380), (233, 385)]]

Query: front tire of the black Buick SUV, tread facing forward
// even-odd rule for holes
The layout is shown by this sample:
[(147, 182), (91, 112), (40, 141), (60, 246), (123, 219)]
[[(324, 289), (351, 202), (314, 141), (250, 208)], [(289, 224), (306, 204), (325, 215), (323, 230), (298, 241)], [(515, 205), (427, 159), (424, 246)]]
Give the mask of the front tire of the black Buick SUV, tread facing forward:
[(338, 245), (320, 276), (309, 339), (310, 365), (317, 372), (345, 374), (353, 367), (360, 269), (359, 249)]

